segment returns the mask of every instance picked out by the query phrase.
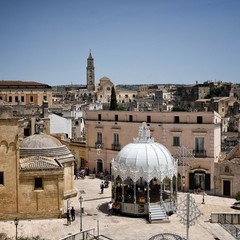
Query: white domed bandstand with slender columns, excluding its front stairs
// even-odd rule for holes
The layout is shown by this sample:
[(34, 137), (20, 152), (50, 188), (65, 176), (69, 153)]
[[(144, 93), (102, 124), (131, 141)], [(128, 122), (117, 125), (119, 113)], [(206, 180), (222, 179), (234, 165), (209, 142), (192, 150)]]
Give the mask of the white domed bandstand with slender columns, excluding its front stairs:
[(151, 203), (171, 201), (172, 179), (177, 177), (177, 170), (177, 161), (165, 146), (154, 142), (149, 127), (143, 123), (138, 138), (123, 147), (112, 162), (113, 198), (121, 202), (121, 212), (146, 215)]

